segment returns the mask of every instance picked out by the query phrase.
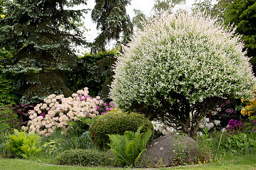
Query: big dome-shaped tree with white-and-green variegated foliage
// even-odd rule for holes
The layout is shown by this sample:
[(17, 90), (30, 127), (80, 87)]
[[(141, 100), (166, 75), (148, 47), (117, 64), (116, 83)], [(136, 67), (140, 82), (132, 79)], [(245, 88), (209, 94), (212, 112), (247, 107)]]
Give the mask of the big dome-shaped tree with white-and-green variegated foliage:
[(110, 90), (114, 103), (191, 137), (206, 112), (228, 99), (251, 97), (255, 87), (241, 36), (202, 13), (162, 12), (123, 48)]

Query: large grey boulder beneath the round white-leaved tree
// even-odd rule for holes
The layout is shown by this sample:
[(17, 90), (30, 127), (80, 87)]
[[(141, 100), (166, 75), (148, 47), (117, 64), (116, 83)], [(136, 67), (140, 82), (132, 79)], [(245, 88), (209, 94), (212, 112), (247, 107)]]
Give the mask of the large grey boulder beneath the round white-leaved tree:
[(161, 164), (170, 167), (178, 161), (177, 156), (181, 154), (184, 156), (183, 163), (195, 162), (196, 153), (197, 143), (193, 138), (169, 134), (151, 141), (142, 158), (153, 166)]

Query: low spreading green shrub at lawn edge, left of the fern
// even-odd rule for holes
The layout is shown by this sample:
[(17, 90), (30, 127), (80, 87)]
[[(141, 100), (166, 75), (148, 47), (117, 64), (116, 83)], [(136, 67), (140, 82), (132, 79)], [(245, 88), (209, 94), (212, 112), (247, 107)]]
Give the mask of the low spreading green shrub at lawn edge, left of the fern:
[(56, 158), (56, 163), (60, 165), (82, 165), (86, 167), (117, 165), (109, 152), (97, 150), (66, 150)]

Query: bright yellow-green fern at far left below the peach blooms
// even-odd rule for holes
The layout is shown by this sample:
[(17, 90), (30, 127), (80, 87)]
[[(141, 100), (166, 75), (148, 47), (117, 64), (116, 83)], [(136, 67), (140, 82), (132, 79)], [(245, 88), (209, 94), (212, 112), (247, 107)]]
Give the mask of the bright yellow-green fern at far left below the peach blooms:
[(27, 159), (42, 150), (41, 147), (38, 147), (39, 139), (39, 135), (35, 134), (34, 131), (28, 134), (26, 131), (14, 129), (14, 134), (9, 134), (6, 146), (11, 157)]

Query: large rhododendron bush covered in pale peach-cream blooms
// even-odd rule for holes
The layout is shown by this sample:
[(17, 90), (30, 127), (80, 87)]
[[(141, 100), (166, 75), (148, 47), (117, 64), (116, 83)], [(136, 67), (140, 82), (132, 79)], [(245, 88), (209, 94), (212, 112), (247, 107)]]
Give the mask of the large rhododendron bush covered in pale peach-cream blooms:
[(68, 129), (69, 121), (78, 121), (79, 117), (94, 118), (98, 114), (104, 114), (112, 109), (113, 104), (107, 105), (100, 96), (92, 98), (88, 95), (88, 88), (77, 91), (72, 97), (65, 98), (64, 95), (49, 95), (29, 111), (30, 121), (27, 127), (28, 132), (37, 131), (40, 135), (48, 136), (56, 128), (63, 131)]

